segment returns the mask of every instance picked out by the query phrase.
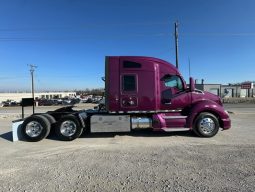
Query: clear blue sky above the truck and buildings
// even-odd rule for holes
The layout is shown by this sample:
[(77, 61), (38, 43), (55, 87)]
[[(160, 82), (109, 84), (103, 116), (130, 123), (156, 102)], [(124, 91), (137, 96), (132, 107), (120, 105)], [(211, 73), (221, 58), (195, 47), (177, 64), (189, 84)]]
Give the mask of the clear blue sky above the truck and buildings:
[(151, 56), (205, 83), (255, 80), (254, 0), (0, 0), (0, 91), (103, 88), (105, 56)]

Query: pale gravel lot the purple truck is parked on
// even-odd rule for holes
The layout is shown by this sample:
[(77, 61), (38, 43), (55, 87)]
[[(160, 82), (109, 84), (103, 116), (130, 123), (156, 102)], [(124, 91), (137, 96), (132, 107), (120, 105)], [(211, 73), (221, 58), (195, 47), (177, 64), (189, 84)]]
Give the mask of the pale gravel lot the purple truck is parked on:
[(0, 109), (0, 191), (255, 191), (255, 105), (226, 108), (232, 128), (209, 139), (143, 131), (37, 143), (13, 143), (19, 109)]

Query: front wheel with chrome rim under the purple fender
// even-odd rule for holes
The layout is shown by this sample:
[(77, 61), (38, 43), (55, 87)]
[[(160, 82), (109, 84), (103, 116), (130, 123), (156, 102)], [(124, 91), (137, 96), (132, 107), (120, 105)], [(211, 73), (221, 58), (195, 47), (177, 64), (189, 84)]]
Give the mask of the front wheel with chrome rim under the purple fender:
[(211, 113), (200, 113), (193, 123), (193, 131), (200, 137), (213, 137), (219, 128), (219, 120)]

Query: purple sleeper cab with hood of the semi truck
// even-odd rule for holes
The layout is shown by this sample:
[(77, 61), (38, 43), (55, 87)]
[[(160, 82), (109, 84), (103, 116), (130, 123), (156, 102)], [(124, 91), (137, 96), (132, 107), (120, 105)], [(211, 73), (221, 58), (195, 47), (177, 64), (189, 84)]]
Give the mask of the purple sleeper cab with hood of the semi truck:
[[(109, 113), (147, 117), (152, 120), (154, 130), (193, 129), (197, 127), (194, 124), (199, 123), (206, 133), (215, 126), (230, 128), (230, 119), (220, 98), (196, 90), (192, 78), (187, 86), (172, 64), (152, 57), (122, 56), (106, 57), (105, 65)], [(195, 123), (197, 119), (201, 122)], [(208, 136), (212, 135), (214, 133)]]

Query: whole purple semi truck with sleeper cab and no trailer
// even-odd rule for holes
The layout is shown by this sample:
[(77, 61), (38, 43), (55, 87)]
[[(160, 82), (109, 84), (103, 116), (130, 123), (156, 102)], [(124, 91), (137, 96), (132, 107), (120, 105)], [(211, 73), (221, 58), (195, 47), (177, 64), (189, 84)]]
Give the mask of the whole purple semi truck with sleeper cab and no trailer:
[(53, 130), (70, 141), (86, 133), (192, 130), (212, 137), (231, 121), (221, 99), (189, 87), (172, 64), (152, 57), (110, 56), (105, 61), (105, 103), (94, 110), (63, 107), (33, 114), (20, 126), (27, 141), (40, 141)]

